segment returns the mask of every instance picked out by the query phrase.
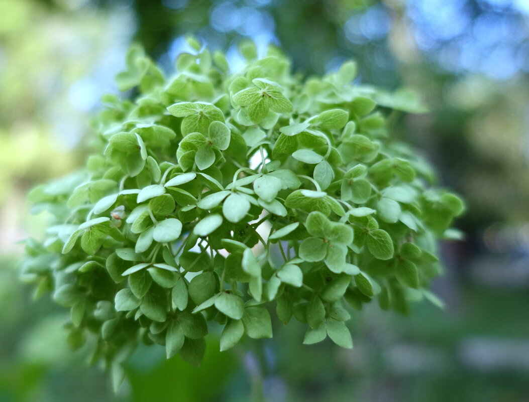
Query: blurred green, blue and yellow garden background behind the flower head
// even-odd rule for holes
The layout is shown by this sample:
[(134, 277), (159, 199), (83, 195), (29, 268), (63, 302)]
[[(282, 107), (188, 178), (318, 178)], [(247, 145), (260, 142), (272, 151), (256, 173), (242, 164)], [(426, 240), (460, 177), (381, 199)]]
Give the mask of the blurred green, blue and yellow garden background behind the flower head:
[[(434, 283), (444, 311), (373, 304), (351, 351), (305, 347), (296, 325), (255, 352), (210, 336), (200, 369), (140, 349), (117, 395), (68, 349), (68, 312), (19, 283), (17, 241), (45, 225), (25, 193), (84, 164), (131, 42), (170, 71), (187, 33), (235, 62), (243, 37), (279, 44), (307, 75), (353, 58), (361, 82), (421, 95), (431, 112), (399, 116), (396, 135), (468, 204)], [(0, 0), (0, 402), (242, 402), (259, 382), (269, 402), (529, 401), (528, 162), (528, 0)]]

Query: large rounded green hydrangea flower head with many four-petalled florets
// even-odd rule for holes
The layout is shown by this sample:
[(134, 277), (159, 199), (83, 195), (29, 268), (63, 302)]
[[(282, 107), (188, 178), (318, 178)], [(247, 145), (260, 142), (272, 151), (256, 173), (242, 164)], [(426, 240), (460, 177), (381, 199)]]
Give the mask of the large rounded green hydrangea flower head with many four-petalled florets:
[(133, 47), (117, 77), (133, 100), (103, 98), (86, 168), (30, 193), (56, 221), (24, 274), (71, 308), (71, 343), (117, 385), (138, 342), (198, 364), (208, 322), (222, 350), (270, 338), (271, 311), (306, 323), (304, 343), (351, 348), (348, 305), (437, 302), (436, 240), (463, 205), (385, 118), (420, 106), (353, 85), (353, 62), (304, 80), (244, 42), (230, 72), (190, 43), (169, 79)]

